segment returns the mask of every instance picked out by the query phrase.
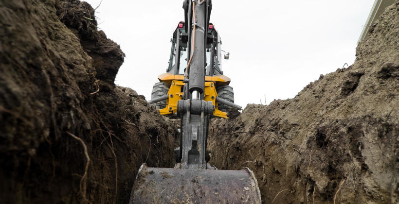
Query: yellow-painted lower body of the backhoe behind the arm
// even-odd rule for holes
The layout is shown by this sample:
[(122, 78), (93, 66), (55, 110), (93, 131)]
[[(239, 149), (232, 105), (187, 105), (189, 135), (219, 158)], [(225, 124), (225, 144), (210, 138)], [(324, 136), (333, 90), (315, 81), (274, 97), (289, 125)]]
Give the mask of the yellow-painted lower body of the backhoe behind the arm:
[[(165, 82), (170, 84), (170, 88), (168, 91), (168, 99), (166, 99), (166, 107), (160, 109), (159, 112), (161, 115), (175, 114), (177, 113), (177, 102), (182, 99), (183, 92), (182, 87), (184, 86), (184, 76), (183, 75), (174, 75), (171, 73), (163, 73), (158, 76), (160, 82)], [(204, 100), (212, 102), (215, 105), (215, 111), (213, 113), (214, 116), (220, 118), (228, 118), (226, 112), (222, 112), (218, 109), (218, 102), (216, 101), (216, 97), (218, 93), (216, 91), (216, 87), (219, 85), (229, 85), (230, 78), (224, 75), (217, 76), (205, 76), (205, 88), (204, 88)]]

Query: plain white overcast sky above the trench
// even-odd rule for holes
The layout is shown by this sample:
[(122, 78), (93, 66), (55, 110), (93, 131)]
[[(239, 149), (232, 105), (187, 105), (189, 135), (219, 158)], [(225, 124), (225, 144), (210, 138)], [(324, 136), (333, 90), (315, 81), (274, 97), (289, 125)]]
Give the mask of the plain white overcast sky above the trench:
[[(100, 0), (86, 0), (93, 8)], [(115, 84), (151, 98), (165, 72), (170, 38), (184, 21), (183, 0), (103, 0), (99, 29), (121, 46), (125, 63)], [(235, 102), (269, 104), (351, 65), (374, 0), (213, 0), (210, 22), (230, 52), (223, 60)]]

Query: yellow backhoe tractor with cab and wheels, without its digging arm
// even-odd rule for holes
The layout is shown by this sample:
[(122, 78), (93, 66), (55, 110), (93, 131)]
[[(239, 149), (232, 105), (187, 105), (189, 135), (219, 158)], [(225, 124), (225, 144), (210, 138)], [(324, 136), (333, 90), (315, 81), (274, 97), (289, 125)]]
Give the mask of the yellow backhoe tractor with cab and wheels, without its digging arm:
[[(161, 115), (177, 115), (177, 103), (183, 99), (184, 74), (191, 57), (187, 48), (189, 26), (185, 21), (179, 22), (171, 39), (172, 47), (169, 57), (169, 66), (166, 72), (158, 76), (159, 83), (153, 86), (151, 92), (152, 103)], [(205, 84), (201, 100), (211, 101), (215, 105), (214, 116), (227, 118), (227, 111), (230, 107), (241, 109), (241, 106), (234, 104), (234, 90), (229, 86), (230, 78), (223, 75), (222, 52), (224, 59), (229, 59), (230, 53), (221, 50), (222, 41), (220, 35), (212, 23), (208, 23), (204, 29), (205, 50)]]

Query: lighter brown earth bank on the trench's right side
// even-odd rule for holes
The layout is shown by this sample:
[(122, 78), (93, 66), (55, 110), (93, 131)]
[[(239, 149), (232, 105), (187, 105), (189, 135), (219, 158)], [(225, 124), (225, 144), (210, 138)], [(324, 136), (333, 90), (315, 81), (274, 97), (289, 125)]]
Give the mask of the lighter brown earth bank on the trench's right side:
[(398, 0), (373, 28), (349, 68), (293, 99), (213, 119), (210, 163), (249, 167), (264, 203), (398, 203)]

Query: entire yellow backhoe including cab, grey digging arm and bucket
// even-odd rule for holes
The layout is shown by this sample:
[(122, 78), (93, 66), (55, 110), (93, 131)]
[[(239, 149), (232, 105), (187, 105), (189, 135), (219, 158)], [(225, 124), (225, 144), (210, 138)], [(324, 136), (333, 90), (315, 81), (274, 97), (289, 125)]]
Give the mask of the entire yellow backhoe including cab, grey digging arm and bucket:
[(207, 163), (210, 118), (227, 118), (221, 110), (241, 107), (231, 99), (230, 79), (220, 69), (220, 36), (209, 23), (212, 0), (184, 0), (183, 8), (185, 21), (179, 23), (172, 39), (169, 68), (159, 77), (164, 87), (158, 91), (167, 94), (149, 101), (166, 100), (160, 113), (181, 120), (177, 164), (174, 168), (143, 164), (129, 204), (261, 204), (257, 180), (249, 168), (218, 170)]

